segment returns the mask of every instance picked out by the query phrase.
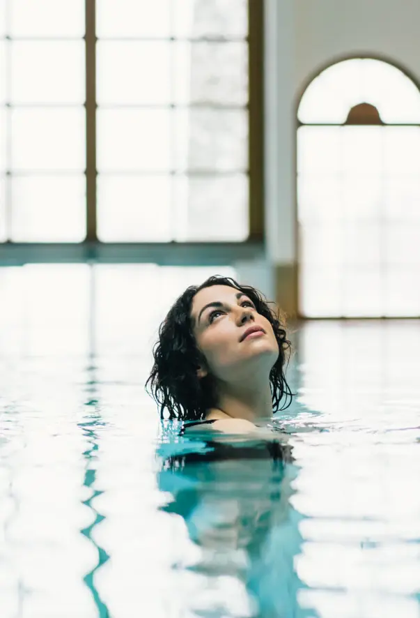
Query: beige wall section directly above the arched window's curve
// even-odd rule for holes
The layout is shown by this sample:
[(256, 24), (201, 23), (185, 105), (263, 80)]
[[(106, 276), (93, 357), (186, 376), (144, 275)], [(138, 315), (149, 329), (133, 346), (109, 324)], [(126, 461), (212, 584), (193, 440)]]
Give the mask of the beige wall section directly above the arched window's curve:
[(419, 0), (295, 0), (295, 92), (350, 54), (389, 59), (420, 82)]

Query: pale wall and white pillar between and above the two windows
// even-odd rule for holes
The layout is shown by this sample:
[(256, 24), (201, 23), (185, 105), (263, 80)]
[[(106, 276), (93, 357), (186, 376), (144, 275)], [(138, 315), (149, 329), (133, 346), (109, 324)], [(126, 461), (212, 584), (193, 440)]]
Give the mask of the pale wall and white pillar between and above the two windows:
[(295, 112), (308, 80), (363, 54), (394, 61), (420, 84), (420, 0), (265, 0), (267, 257), (293, 264)]

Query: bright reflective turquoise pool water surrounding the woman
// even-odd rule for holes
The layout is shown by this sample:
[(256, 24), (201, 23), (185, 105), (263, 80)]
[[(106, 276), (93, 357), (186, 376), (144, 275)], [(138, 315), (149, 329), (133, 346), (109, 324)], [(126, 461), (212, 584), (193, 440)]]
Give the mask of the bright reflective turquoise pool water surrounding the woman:
[(419, 618), (419, 322), (297, 329), (273, 461), (143, 391), (209, 273), (0, 269), (1, 618)]

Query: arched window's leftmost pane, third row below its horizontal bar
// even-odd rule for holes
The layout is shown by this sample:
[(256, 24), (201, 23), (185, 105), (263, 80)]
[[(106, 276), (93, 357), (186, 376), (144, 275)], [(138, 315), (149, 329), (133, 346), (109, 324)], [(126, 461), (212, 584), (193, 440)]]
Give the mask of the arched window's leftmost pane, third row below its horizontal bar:
[(326, 223), (305, 225), (300, 230), (300, 262), (318, 269), (332, 268), (344, 261), (344, 229)]

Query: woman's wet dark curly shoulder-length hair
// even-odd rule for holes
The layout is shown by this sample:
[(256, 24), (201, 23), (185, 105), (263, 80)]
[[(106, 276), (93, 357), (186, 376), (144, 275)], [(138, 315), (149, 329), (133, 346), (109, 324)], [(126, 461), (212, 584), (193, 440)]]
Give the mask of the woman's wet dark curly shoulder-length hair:
[[(205, 363), (203, 354), (196, 346), (192, 332), (192, 299), (199, 290), (212, 285), (229, 285), (247, 294), (260, 315), (272, 325), (274, 336), (279, 344), (279, 357), (270, 371), (273, 409), (286, 409), (291, 403), (293, 393), (286, 382), (284, 365), (290, 341), (286, 338), (278, 312), (268, 306), (263, 294), (250, 285), (240, 285), (231, 277), (215, 275), (201, 285), (191, 285), (179, 296), (160, 325), (159, 339), (153, 347), (155, 363), (146, 381), (146, 391), (160, 407), (160, 418), (164, 419), (164, 409), (169, 411), (169, 419), (180, 421), (202, 420), (211, 407), (217, 406), (217, 393), (212, 376), (199, 378), (196, 371)], [(280, 406), (281, 400), (285, 400)]]

